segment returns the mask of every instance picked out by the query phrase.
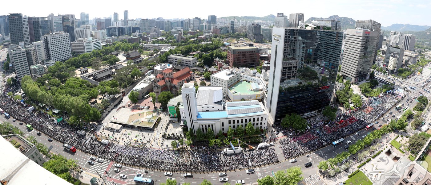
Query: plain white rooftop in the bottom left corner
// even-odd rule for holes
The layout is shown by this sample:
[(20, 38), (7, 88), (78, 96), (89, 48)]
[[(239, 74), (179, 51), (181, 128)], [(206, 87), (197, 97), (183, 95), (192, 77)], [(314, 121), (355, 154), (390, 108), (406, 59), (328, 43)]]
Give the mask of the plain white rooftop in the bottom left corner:
[[(11, 134), (12, 135), (12, 134)], [(8, 136), (8, 135), (6, 135)], [(31, 161), (3, 137), (0, 138), (0, 156), (2, 156), (2, 181), (8, 185), (66, 185), (70, 184), (59, 176), (45, 170)], [(37, 173), (36, 173), (37, 172)]]

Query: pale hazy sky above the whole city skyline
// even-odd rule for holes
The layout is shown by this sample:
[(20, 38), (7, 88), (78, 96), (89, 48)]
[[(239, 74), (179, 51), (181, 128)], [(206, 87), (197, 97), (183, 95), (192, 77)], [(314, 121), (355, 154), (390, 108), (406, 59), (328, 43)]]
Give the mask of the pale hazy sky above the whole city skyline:
[(27, 16), (47, 16), (53, 13), (75, 14), (75, 17), (79, 18), (80, 12), (86, 12), (89, 13), (90, 18), (95, 18), (109, 17), (113, 12), (118, 12), (119, 18), (122, 19), (123, 12), (127, 9), (129, 18), (200, 17), (206, 19), (208, 15), (262, 17), (283, 12), (284, 14), (303, 13), (305, 19), (338, 15), (354, 20), (373, 19), (382, 26), (395, 23), (431, 26), (431, 0), (72, 0), (67, 3), (60, 2), (62, 1), (22, 0), (17, 4), (16, 1), (4, 0), (1, 3), (0, 15), (20, 12)]

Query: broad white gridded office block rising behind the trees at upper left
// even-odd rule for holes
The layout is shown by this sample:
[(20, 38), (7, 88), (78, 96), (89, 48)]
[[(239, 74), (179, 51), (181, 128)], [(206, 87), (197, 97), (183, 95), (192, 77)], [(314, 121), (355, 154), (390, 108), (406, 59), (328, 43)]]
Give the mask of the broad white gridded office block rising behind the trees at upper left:
[(72, 57), (69, 33), (55, 32), (43, 36), (47, 60), (66, 61)]

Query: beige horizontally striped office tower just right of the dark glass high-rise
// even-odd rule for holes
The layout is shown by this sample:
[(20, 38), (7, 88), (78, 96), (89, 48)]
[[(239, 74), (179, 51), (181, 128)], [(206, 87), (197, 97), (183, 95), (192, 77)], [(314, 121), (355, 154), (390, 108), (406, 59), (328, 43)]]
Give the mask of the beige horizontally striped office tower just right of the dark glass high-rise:
[(380, 31), (347, 29), (341, 74), (353, 83), (369, 79)]

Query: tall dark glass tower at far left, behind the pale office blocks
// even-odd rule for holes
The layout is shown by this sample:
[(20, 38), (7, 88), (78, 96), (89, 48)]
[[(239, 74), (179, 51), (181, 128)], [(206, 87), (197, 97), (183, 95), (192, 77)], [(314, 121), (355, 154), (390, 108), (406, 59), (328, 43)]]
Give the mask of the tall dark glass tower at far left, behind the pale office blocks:
[[(22, 25), (21, 13), (9, 13), (9, 33), (10, 43), (18, 44), (24, 42), (24, 28)], [(28, 38), (30, 41), (30, 36)]]

